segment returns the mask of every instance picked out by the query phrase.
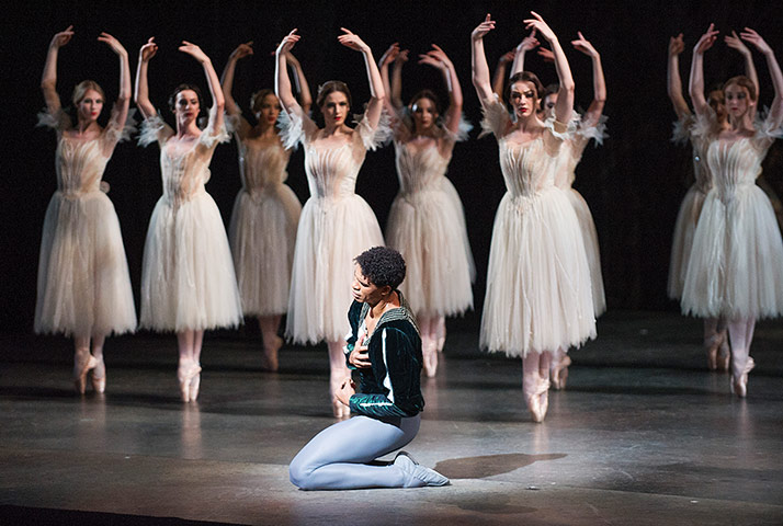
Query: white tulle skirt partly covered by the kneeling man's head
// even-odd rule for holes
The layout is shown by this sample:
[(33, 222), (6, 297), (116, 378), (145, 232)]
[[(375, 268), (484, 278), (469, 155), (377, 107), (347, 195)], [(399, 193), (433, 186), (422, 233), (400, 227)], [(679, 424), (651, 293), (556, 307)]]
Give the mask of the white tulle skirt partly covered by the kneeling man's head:
[(383, 244), (378, 220), (359, 195), (307, 199), (296, 232), (286, 335), (297, 343), (344, 339), (353, 259)]

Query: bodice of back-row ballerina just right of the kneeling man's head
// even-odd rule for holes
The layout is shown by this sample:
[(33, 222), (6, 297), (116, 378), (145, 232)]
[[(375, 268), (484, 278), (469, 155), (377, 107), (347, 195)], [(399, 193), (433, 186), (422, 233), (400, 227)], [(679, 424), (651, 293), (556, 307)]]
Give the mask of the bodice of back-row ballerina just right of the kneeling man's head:
[(397, 178), (402, 194), (436, 187), (449, 168), (451, 156), (444, 158), (432, 144), (425, 148), (410, 148), (395, 141)]

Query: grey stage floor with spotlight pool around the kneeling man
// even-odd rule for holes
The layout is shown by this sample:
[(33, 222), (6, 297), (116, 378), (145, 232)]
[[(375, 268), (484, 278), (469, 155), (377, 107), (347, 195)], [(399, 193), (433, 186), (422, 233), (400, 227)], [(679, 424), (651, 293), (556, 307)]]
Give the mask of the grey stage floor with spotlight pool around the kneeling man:
[[(78, 397), (64, 339), (0, 340), (0, 514), (7, 523), (783, 524), (783, 323), (759, 324), (747, 400), (705, 370), (697, 320), (610, 312), (574, 351), (543, 424), (521, 363), (450, 324), (407, 447), (445, 488), (304, 492), (291, 458), (331, 424), (321, 347), (259, 368), (253, 328), (207, 335), (197, 404), (178, 401), (173, 336), (106, 346), (105, 396)], [(11, 517), (11, 518), (9, 518)], [(181, 521), (163, 521), (179, 517)], [(2, 517), (0, 517), (2, 522)]]

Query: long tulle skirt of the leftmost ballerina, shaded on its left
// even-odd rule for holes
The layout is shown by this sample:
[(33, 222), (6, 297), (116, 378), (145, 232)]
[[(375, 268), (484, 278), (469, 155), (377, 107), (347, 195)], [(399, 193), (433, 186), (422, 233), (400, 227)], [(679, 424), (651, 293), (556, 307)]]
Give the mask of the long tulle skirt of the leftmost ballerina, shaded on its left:
[(136, 329), (120, 221), (100, 191), (56, 192), (44, 219), (35, 332), (89, 338)]

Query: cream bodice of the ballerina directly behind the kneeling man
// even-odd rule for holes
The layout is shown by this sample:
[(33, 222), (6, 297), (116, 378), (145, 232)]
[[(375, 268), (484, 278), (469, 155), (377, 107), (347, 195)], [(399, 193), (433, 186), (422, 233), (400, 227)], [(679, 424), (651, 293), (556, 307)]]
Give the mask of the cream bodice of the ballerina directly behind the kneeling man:
[[(359, 145), (359, 146), (356, 146)], [(352, 195), (366, 150), (352, 140), (333, 147), (308, 142), (305, 148), (305, 172), (313, 197)]]

